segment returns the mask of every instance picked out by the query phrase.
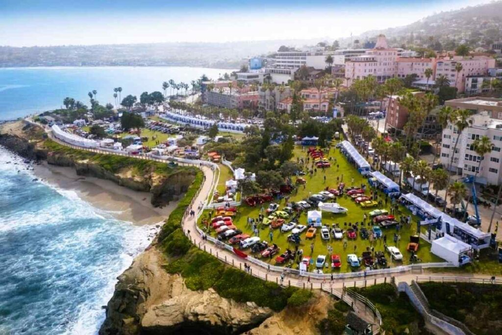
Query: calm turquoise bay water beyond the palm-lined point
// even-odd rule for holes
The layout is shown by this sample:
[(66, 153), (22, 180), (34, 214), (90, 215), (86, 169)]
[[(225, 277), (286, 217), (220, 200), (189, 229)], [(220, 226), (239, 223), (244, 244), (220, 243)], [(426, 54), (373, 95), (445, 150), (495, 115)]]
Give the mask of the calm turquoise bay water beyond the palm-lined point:
[[(59, 108), (67, 96), (87, 105), (87, 93), (97, 90), (101, 104), (114, 103), (113, 88), (121, 97), (138, 98), (144, 91), (161, 91), (162, 82), (173, 79), (190, 85), (202, 74), (216, 79), (231, 70), (196, 67), (41, 67), (0, 69), (0, 120), (13, 120)], [(190, 87), (191, 88), (191, 87)]]

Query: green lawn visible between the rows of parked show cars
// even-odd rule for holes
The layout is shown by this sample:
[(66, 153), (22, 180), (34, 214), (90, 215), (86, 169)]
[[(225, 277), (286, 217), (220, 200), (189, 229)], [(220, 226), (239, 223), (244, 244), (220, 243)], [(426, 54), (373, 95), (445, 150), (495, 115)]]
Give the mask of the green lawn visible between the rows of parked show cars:
[[(303, 152), (301, 150), (301, 147), (296, 147), (295, 148), (295, 157), (293, 157), (293, 160), (296, 161), (296, 157), (305, 157), (306, 152)], [(309, 194), (314, 194), (316, 192), (319, 192), (326, 188), (326, 186), (329, 187), (336, 187), (338, 184), (336, 178), (338, 177), (340, 180), (343, 178), (343, 181), (345, 182), (346, 186), (350, 186), (352, 184), (352, 178), (353, 178), (353, 185), (361, 185), (361, 184), (366, 184), (367, 185), (367, 179), (361, 176), (357, 170), (350, 165), (345, 157), (339, 152), (338, 149), (335, 149), (334, 147), (331, 148), (329, 155), (333, 157), (332, 160), (332, 167), (327, 168), (325, 172), (323, 172), (321, 169), (317, 171), (312, 177), (310, 175), (305, 176), (307, 180), (307, 184), (305, 185), (305, 188), (303, 186), (299, 186), (298, 192), (292, 193), (290, 195), (290, 201), (299, 201), (302, 200), (305, 197), (308, 197)], [(334, 159), (336, 159), (335, 164)], [(339, 168), (336, 168), (336, 164), (339, 165)], [(223, 172), (223, 171), (222, 171)], [(324, 182), (324, 175), (326, 175), (326, 182)], [(222, 176), (220, 176), (220, 181), (222, 180)], [(368, 192), (368, 191), (367, 191)], [(281, 201), (278, 201), (281, 207), (284, 207), (286, 205), (285, 200), (282, 199)], [(337, 199), (337, 202), (343, 206), (348, 208), (348, 213), (347, 214), (332, 214), (332, 213), (327, 213), (323, 212), (323, 224), (331, 226), (332, 224), (338, 223), (339, 226), (342, 229), (346, 229), (345, 227), (345, 222), (361, 222), (362, 221), (362, 216), (364, 212), (369, 212), (372, 209), (378, 208), (378, 207), (373, 207), (373, 208), (362, 208), (358, 204), (356, 204), (352, 199), (349, 197), (341, 197)], [(387, 208), (388, 210), (390, 209), (391, 202), (389, 201), (387, 205), (385, 205), (383, 208)], [(268, 207), (268, 203), (263, 205), (264, 208)], [(258, 215), (260, 214), (261, 206), (257, 207), (249, 207), (245, 204), (239, 207), (239, 212), (236, 217), (234, 217), (233, 222), (234, 225), (237, 226), (238, 229), (242, 230), (244, 233), (252, 235), (250, 227), (247, 226), (247, 217), (253, 217), (255, 219), (258, 218)], [(408, 215), (410, 212), (405, 208), (401, 207), (401, 212), (403, 215)], [(208, 217), (209, 211), (207, 211), (200, 219), (199, 224), (201, 225), (201, 220), (203, 217)], [(399, 219), (399, 215), (398, 215)], [(416, 222), (416, 217), (413, 218), (413, 222)], [(307, 213), (303, 212), (300, 216), (300, 224), (306, 225), (307, 221)], [(360, 227), (360, 226), (359, 226)], [(367, 228), (367, 224), (365, 225)], [(389, 245), (394, 245), (393, 243), (393, 235), (396, 232), (395, 228), (390, 228), (388, 230), (384, 230), (384, 234), (387, 235), (387, 243)], [(260, 238), (262, 240), (266, 240), (270, 242), (269, 238), (269, 233), (270, 230), (268, 227), (263, 227), (263, 229), (260, 230)], [(214, 233), (213, 233), (214, 234)], [(294, 245), (289, 244), (287, 242), (287, 236), (290, 233), (281, 233), (279, 229), (276, 229), (273, 231), (273, 243), (276, 243), (282, 251), (285, 251), (286, 248), (289, 248), (291, 250), (294, 250)], [(403, 264), (408, 264), (409, 263), (409, 254), (406, 251), (406, 246), (409, 241), (410, 235), (416, 234), (416, 224), (412, 224), (409, 227), (404, 226), (402, 230), (400, 230), (400, 235), (401, 235), (401, 241), (398, 242), (397, 247), (401, 250), (401, 252), (404, 254), (404, 260), (403, 262), (398, 262), (398, 263), (392, 263), (390, 262), (390, 258), (388, 257), (389, 265), (390, 266), (399, 266)], [(341, 240), (333, 240), (331, 239), (330, 241), (324, 241), (320, 237), (320, 231), (318, 230), (318, 234), (316, 237), (312, 240), (306, 240), (305, 239), (305, 232), (301, 234), (302, 242), (299, 246), (299, 249), (303, 249), (304, 255), (307, 256), (312, 256), (312, 257), (317, 257), (317, 255), (327, 255), (327, 247), (328, 245), (331, 245), (333, 248), (333, 253), (334, 254), (339, 254), (342, 260), (342, 272), (348, 272), (348, 271), (358, 271), (360, 269), (351, 269), (346, 262), (347, 254), (352, 254), (354, 253), (354, 247), (355, 247), (355, 254), (358, 256), (361, 255), (361, 252), (366, 250), (366, 247), (371, 247), (369, 240), (363, 240), (359, 236), (357, 236), (357, 239), (355, 240), (348, 240), (348, 245), (347, 248), (343, 248), (343, 242)], [(310, 252), (310, 244), (314, 244), (314, 251), (313, 253)], [(373, 243), (373, 247), (375, 252), (376, 251), (384, 251), (384, 243), (382, 239), (379, 241), (375, 241)], [(247, 251), (249, 252), (249, 251)], [(438, 262), (441, 261), (440, 258), (432, 255), (430, 253), (430, 245), (426, 243), (425, 241), (422, 241), (419, 251), (418, 251), (418, 256), (424, 261), (424, 262)], [(271, 262), (271, 264), (275, 264), (275, 260), (273, 259), (272, 261), (270, 259), (265, 260), (267, 262)], [(295, 265), (296, 266), (296, 265)], [(335, 271), (340, 271), (340, 270), (335, 270)], [(331, 272), (330, 269), (324, 269), (324, 272)]]

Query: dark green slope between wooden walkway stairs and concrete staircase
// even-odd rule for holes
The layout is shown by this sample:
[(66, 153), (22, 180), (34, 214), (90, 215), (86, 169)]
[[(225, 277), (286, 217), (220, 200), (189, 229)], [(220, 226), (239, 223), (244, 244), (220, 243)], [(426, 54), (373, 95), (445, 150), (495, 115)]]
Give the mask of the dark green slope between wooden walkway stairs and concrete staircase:
[(424, 321), (404, 292), (399, 294), (392, 284), (379, 284), (366, 288), (350, 288), (368, 298), (382, 315), (382, 328), (387, 334), (420, 333)]

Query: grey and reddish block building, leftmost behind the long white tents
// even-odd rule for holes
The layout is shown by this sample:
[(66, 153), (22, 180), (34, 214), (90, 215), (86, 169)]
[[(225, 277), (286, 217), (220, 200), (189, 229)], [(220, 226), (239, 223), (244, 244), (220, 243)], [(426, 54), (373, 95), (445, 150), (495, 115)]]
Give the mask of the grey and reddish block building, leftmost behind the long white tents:
[(258, 91), (229, 87), (213, 89), (204, 93), (204, 102), (213, 106), (225, 108), (255, 108), (258, 106)]

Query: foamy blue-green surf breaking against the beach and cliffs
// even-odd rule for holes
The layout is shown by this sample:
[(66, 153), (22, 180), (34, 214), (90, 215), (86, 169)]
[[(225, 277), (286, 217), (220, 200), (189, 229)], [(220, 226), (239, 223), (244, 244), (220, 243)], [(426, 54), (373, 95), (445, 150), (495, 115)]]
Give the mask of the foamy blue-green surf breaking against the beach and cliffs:
[(155, 228), (113, 219), (27, 168), (0, 147), (0, 334), (94, 334)]

